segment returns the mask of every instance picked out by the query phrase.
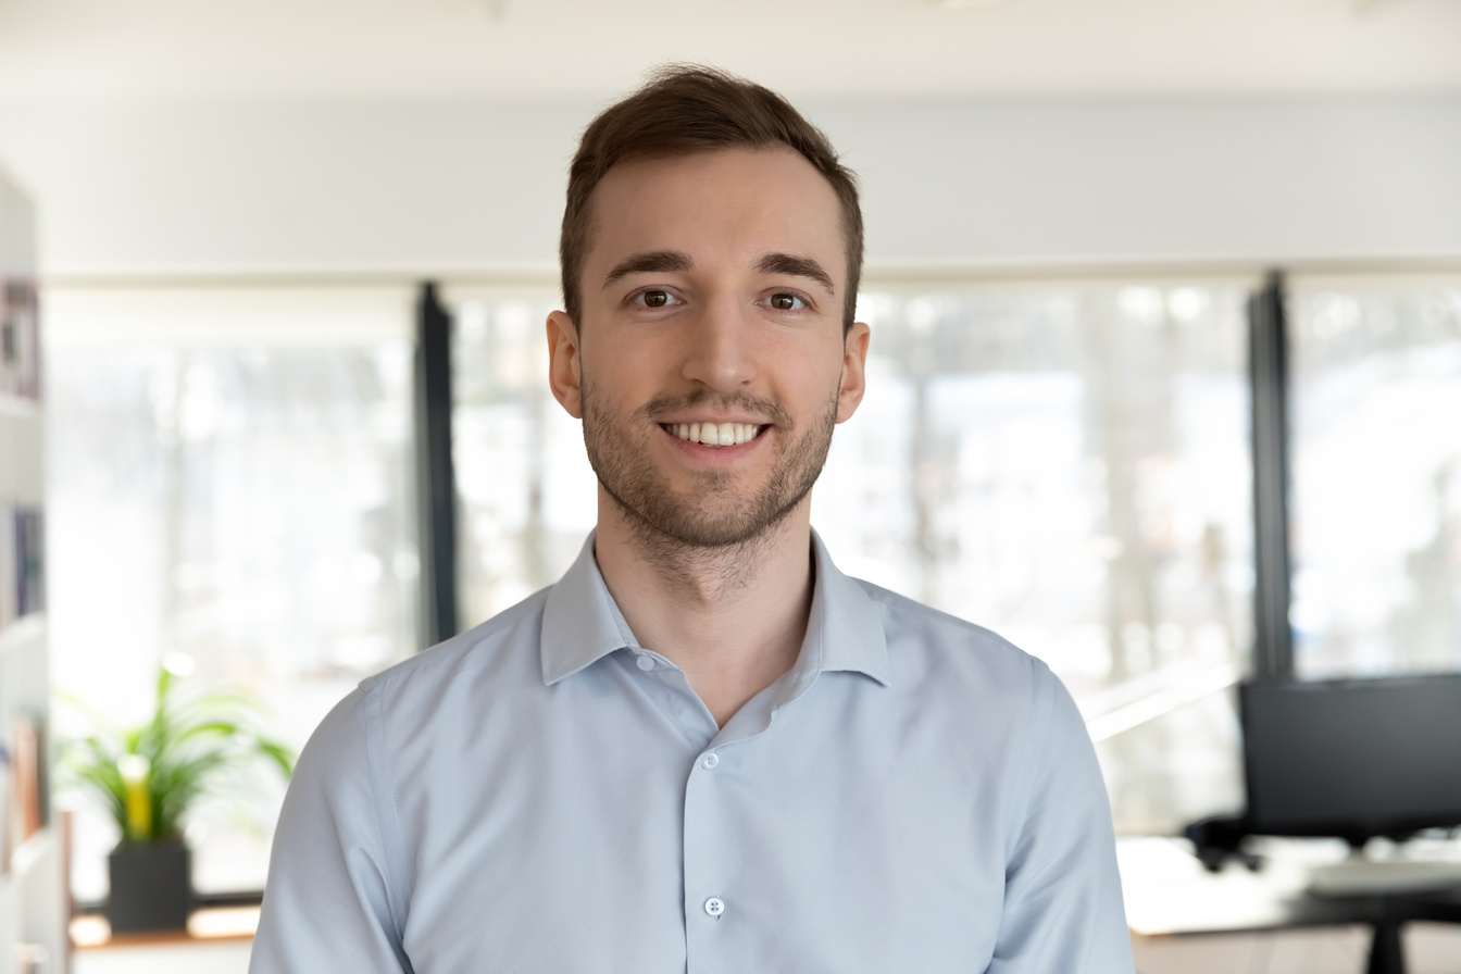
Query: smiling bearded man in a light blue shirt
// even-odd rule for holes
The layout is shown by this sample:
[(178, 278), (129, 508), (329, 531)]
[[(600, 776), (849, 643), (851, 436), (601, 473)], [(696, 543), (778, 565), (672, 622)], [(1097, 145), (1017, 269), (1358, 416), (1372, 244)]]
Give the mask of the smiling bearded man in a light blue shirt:
[(561, 257), (549, 383), (598, 530), (326, 718), (251, 971), (1129, 973), (1065, 689), (811, 532), (868, 352), (825, 139), (665, 70), (586, 130)]

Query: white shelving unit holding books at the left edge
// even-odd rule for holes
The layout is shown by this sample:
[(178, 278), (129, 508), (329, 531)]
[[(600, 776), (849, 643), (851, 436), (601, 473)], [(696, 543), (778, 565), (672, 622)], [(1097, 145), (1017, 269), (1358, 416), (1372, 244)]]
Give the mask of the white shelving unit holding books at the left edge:
[[(34, 282), (34, 237), (29, 200), (0, 171), (0, 288), (7, 280)], [(0, 388), (0, 507), (6, 517), (13, 505), (44, 508), (42, 447), (42, 403)], [(12, 543), (9, 533), (0, 532), (0, 537)], [(15, 578), (0, 583), (15, 584)], [(44, 727), (50, 698), (44, 613), (0, 619), (0, 742), (12, 743), (16, 716), (38, 718)], [(48, 736), (44, 743), (50, 745)], [(42, 781), (48, 784), (51, 755), (42, 746), (37, 756), (44, 768)], [(66, 885), (57, 829), (54, 819), (42, 822), (39, 831), (12, 850), (9, 863), (0, 863), (0, 974), (66, 973)], [(44, 961), (26, 968), (23, 956)]]

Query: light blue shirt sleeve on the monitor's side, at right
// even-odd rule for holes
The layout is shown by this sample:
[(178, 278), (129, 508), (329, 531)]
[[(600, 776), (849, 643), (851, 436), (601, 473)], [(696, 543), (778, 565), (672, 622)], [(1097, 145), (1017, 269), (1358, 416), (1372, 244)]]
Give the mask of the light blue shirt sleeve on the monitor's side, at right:
[[(1075, 701), (1045, 666), (1033, 780), (988, 974), (1132, 974), (1110, 805)], [(1043, 720), (1042, 720), (1043, 711)], [(1043, 724), (1043, 733), (1040, 726)]]

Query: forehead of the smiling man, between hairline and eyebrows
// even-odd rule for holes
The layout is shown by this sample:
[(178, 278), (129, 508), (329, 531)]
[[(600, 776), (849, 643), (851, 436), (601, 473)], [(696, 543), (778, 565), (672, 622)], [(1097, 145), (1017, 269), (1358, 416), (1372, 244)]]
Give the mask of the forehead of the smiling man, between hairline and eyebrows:
[[(831, 184), (787, 147), (723, 149), (631, 159), (590, 197), (587, 291), (633, 253), (679, 250), (703, 263), (745, 264), (764, 253), (824, 263), (843, 280), (842, 204)], [(839, 285), (840, 289), (840, 285)]]

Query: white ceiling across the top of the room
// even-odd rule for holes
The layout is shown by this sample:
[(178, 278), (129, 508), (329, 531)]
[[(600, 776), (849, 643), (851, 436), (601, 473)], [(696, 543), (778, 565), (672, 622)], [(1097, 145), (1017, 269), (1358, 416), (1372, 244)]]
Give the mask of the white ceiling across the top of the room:
[(0, 98), (600, 101), (1461, 92), (1461, 0), (0, 0)]

